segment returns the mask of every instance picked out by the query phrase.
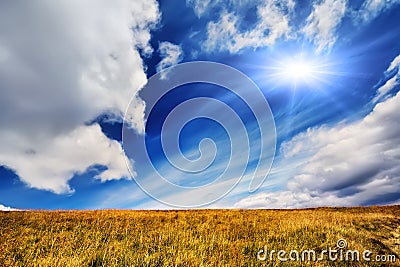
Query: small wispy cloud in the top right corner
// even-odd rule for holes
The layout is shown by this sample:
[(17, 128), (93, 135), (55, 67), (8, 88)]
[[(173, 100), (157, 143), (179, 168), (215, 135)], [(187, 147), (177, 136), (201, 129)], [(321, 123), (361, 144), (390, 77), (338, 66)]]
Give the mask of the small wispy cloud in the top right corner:
[(396, 4), (400, 4), (400, 0), (367, 0), (356, 18), (361, 22), (369, 22)]

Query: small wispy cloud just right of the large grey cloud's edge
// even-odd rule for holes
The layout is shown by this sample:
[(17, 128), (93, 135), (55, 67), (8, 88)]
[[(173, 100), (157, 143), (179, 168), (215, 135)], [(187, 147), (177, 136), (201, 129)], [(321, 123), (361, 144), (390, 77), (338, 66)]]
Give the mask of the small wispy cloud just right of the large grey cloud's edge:
[(158, 53), (162, 59), (157, 64), (157, 72), (178, 64), (183, 58), (181, 46), (170, 42), (161, 42), (158, 47)]

